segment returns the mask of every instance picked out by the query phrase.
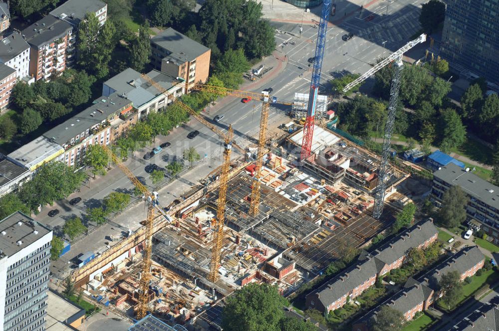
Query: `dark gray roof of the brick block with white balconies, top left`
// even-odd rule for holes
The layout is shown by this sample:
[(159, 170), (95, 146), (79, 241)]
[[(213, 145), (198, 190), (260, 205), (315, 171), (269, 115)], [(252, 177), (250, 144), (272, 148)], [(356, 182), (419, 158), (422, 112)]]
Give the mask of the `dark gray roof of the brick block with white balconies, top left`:
[(21, 34), (29, 45), (40, 49), (47, 43), (65, 36), (72, 28), (68, 22), (46, 15), (22, 30)]

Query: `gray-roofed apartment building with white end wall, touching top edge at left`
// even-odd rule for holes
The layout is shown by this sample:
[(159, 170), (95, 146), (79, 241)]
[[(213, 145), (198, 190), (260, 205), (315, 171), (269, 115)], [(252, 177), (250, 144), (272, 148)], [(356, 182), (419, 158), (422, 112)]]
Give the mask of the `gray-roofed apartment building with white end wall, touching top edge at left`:
[(94, 12), (102, 25), (107, 20), (107, 3), (100, 0), (68, 0), (50, 11), (50, 15), (70, 23), (75, 28), (87, 12)]

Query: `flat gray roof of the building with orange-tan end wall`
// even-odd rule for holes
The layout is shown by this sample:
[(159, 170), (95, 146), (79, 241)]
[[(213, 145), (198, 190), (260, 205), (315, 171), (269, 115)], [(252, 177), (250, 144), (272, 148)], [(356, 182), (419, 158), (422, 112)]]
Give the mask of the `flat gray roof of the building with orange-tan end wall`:
[(186, 59), (187, 61), (192, 61), (210, 50), (210, 48), (203, 46), (171, 27), (158, 33), (151, 39), (151, 42), (170, 52), (168, 56), (164, 57), (165, 59), (171, 59), (180, 63), (186, 62)]

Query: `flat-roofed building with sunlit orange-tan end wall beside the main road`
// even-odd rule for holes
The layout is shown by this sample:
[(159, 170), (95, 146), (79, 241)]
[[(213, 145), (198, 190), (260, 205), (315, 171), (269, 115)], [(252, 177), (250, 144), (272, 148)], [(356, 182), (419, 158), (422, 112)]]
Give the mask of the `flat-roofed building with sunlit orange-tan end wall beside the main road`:
[(188, 84), (206, 82), (211, 49), (171, 27), (151, 39), (151, 61), (155, 69)]

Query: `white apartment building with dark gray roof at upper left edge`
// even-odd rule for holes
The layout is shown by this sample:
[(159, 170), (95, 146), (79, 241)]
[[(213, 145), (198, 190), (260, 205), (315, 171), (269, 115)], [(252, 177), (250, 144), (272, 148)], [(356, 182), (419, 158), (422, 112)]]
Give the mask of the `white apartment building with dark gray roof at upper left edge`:
[(16, 77), (22, 79), (29, 74), (29, 45), (21, 34), (14, 32), (0, 42), (0, 63), (16, 71)]

